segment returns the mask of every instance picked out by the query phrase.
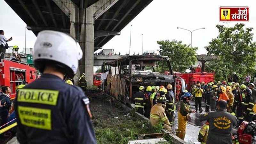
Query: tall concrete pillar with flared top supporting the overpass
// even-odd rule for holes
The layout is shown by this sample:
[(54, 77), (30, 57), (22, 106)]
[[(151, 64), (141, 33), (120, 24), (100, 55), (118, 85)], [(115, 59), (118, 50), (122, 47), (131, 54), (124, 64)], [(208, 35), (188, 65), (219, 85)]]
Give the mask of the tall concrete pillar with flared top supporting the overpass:
[(70, 35), (79, 42), (83, 51), (83, 58), (79, 61), (77, 74), (74, 77), (76, 84), (78, 84), (82, 73), (85, 73), (87, 85), (93, 84), (94, 20), (98, 19), (117, 1), (99, 0), (86, 8), (86, 5), (83, 4), (78, 7), (71, 0), (53, 0), (70, 18)]

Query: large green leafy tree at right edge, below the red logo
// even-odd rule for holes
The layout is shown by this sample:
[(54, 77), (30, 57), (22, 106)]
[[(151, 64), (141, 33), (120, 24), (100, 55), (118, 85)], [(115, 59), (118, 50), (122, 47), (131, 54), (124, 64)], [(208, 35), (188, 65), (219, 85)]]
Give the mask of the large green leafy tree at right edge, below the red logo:
[(252, 41), (253, 28), (244, 28), (244, 24), (236, 24), (234, 27), (216, 25), (219, 36), (213, 38), (205, 47), (208, 55), (216, 55), (218, 58), (206, 63), (206, 70), (214, 70), (215, 80), (227, 80), (233, 72), (241, 78), (247, 73), (253, 74), (256, 65), (256, 43)]

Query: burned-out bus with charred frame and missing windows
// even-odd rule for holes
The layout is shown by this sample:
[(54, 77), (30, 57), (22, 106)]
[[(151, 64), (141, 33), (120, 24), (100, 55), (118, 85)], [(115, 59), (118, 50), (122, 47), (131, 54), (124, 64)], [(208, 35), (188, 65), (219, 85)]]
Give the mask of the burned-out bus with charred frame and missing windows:
[[(166, 71), (169, 71), (168, 74)], [(175, 79), (182, 83), (185, 92), (185, 82), (172, 74), (172, 67), (167, 56), (134, 55), (124, 56), (113, 61), (103, 62), (101, 67), (102, 90), (131, 104), (132, 96), (139, 90), (140, 85), (166, 86), (172, 84), (175, 92)]]

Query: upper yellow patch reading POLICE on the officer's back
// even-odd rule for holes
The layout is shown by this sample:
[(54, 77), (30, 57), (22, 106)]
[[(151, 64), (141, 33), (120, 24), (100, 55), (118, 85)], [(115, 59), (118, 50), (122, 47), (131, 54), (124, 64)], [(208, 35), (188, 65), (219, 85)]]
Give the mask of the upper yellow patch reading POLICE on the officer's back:
[(56, 106), (58, 96), (57, 90), (20, 89), (17, 101)]

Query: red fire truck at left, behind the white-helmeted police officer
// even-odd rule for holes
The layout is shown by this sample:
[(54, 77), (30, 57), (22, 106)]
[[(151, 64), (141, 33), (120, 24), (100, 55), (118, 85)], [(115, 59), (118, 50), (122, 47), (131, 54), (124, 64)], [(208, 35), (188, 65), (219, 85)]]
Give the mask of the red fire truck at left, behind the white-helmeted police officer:
[(37, 79), (36, 69), (28, 64), (8, 59), (0, 60), (0, 85), (10, 86), (11, 100), (16, 96), (16, 86), (22, 81), (31, 83), (35, 79)]

